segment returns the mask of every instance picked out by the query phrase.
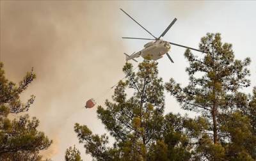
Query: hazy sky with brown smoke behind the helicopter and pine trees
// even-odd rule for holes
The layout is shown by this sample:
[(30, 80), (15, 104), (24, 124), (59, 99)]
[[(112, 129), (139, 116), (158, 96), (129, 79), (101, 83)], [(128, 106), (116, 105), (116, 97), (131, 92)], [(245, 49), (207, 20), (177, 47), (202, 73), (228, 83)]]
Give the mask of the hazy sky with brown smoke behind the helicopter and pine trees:
[[(223, 42), (233, 44), (237, 59), (252, 59), (252, 86), (244, 89), (250, 93), (256, 86), (255, 7), (255, 1), (0, 1), (0, 58), (6, 77), (14, 82), (35, 70), (36, 80), (22, 100), (36, 96), (29, 115), (40, 120), (39, 129), (54, 141), (42, 152), (44, 157), (64, 160), (65, 150), (75, 144), (83, 160), (92, 160), (78, 143), (74, 123), (96, 134), (106, 132), (97, 108), (85, 109), (84, 104), (95, 98), (104, 105), (113, 94), (111, 86), (124, 77), (122, 53), (131, 54), (147, 43), (122, 36), (151, 38), (119, 8), (155, 36), (176, 17), (163, 39), (189, 47), (198, 48), (206, 33), (221, 33)], [(173, 64), (167, 57), (158, 60), (164, 82), (173, 77), (182, 86), (188, 83), (185, 50), (171, 47)], [(165, 112), (186, 111), (166, 93)]]

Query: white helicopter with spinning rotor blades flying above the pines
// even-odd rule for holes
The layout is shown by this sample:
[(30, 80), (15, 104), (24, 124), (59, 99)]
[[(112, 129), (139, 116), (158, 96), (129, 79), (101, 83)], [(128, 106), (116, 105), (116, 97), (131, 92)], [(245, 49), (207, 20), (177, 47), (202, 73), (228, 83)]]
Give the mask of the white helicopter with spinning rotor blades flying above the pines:
[[(122, 8), (120, 8), (120, 10), (122, 10)], [(128, 17), (130, 17), (132, 20), (134, 20), (128, 13), (126, 13), (124, 10), (122, 10)], [(141, 26), (141, 24), (139, 24), (139, 22), (137, 22), (136, 20), (134, 20), (134, 22), (136, 22), (140, 27), (142, 27), (143, 29), (145, 29), (145, 31), (147, 31), (147, 33), (149, 33), (151, 36), (154, 37), (153, 38), (131, 38), (131, 37), (122, 37), (122, 38), (129, 38), (129, 39), (139, 39), (139, 40), (154, 40), (152, 42), (146, 43), (144, 45), (144, 49), (140, 50), (139, 52), (134, 52), (133, 54), (131, 54), (130, 56), (128, 54), (125, 54), (126, 56), (126, 61), (132, 59), (134, 61), (136, 61), (136, 59), (134, 59), (135, 57), (143, 57), (144, 59), (146, 57), (150, 57), (150, 59), (153, 60), (157, 60), (160, 59), (161, 57), (163, 57), (164, 54), (166, 54), (168, 56), (168, 58), (170, 59), (170, 61), (173, 62), (172, 58), (170, 57), (170, 55), (168, 54), (168, 51), (170, 51), (171, 46), (172, 45), (176, 45), (179, 47), (184, 47), (187, 49), (191, 49), (191, 50), (196, 50), (198, 52), (205, 52), (202, 50), (198, 50), (198, 49), (194, 49), (192, 47), (186, 47), (184, 45), (179, 45), (177, 43), (172, 43), (172, 42), (166, 42), (161, 40), (160, 38), (164, 36), (164, 34), (167, 33), (167, 31), (173, 26), (173, 24), (176, 22), (176, 18), (172, 20), (172, 22), (170, 23), (170, 25), (164, 30), (164, 32), (157, 38), (156, 36), (154, 36), (152, 33), (150, 33), (147, 29), (145, 29), (145, 27)], [(138, 61), (136, 61), (138, 62)]]

